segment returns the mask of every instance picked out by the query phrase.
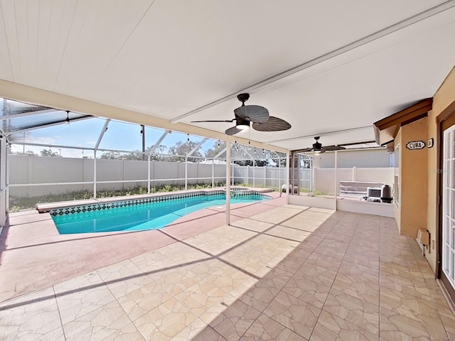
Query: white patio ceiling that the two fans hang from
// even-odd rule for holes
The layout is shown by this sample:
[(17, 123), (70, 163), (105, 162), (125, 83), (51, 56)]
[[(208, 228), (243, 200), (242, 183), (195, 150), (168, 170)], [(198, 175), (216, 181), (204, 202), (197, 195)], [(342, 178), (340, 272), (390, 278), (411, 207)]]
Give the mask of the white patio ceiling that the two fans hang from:
[(0, 21), (1, 80), (220, 132), (191, 121), (248, 90), (292, 128), (240, 136), (288, 149), (373, 140), (455, 64), (454, 0), (0, 0)]

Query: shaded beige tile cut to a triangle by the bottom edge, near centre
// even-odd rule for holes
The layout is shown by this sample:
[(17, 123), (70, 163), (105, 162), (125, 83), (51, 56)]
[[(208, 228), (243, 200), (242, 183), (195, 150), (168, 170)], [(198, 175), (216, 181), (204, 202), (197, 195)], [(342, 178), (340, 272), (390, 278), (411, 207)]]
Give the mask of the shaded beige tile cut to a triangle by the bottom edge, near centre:
[(262, 314), (240, 338), (240, 341), (306, 341), (306, 339)]

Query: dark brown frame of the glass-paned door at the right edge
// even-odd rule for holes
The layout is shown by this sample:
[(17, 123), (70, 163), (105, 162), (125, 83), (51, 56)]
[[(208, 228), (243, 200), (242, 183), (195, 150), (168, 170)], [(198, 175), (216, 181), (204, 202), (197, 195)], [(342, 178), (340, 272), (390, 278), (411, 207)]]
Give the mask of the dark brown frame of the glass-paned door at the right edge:
[(437, 176), (437, 267), (436, 267), (436, 278), (440, 279), (446, 293), (449, 298), (451, 298), (452, 303), (455, 302), (455, 289), (452, 288), (449, 279), (446, 278), (444, 272), (442, 271), (442, 193), (444, 189), (444, 174), (442, 170), (444, 169), (444, 131), (449, 129), (455, 124), (455, 101), (452, 102), (446, 109), (444, 109), (441, 114), (437, 117), (437, 165), (438, 165), (438, 176)]

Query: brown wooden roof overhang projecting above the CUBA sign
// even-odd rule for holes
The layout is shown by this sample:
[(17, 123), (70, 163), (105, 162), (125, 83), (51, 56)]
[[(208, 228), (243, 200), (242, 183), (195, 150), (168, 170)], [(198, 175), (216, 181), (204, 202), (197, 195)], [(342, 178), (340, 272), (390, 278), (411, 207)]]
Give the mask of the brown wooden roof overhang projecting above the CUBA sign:
[(395, 140), (401, 126), (410, 124), (418, 119), (427, 117), (428, 112), (433, 107), (433, 98), (423, 99), (422, 101), (413, 104), (406, 109), (396, 112), (380, 121), (376, 121), (373, 126), (375, 128), (375, 140), (380, 146), (390, 144)]

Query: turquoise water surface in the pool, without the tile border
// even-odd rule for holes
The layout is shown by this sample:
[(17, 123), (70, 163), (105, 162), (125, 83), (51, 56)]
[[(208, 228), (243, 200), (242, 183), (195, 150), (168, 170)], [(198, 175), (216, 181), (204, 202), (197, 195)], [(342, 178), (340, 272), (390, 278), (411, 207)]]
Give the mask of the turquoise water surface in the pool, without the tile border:
[[(267, 198), (267, 195), (250, 194), (231, 197), (230, 202), (257, 202)], [(225, 203), (224, 194), (200, 195), (72, 214), (53, 215), (51, 212), (51, 215), (60, 234), (141, 231), (161, 229), (188, 213)]]

